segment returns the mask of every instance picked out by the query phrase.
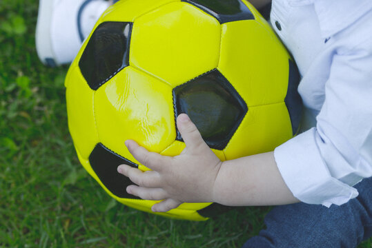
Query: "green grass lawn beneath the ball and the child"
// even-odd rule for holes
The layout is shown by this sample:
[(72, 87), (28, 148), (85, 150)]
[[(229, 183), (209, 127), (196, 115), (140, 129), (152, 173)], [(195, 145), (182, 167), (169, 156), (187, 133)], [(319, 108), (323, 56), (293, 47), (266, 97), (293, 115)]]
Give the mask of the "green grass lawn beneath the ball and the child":
[(268, 207), (169, 220), (117, 203), (88, 176), (68, 133), (68, 68), (37, 59), (37, 3), (0, 1), (0, 247), (241, 247), (257, 235)]

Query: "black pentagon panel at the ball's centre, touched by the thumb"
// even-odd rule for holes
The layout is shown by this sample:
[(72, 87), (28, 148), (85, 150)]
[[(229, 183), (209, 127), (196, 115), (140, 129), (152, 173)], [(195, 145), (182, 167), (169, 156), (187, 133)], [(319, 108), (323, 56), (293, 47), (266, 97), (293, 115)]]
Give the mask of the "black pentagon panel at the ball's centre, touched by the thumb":
[[(214, 149), (224, 149), (242, 122), (248, 107), (233, 85), (217, 69), (173, 89), (175, 118), (188, 114)], [(177, 130), (177, 140), (182, 136)]]

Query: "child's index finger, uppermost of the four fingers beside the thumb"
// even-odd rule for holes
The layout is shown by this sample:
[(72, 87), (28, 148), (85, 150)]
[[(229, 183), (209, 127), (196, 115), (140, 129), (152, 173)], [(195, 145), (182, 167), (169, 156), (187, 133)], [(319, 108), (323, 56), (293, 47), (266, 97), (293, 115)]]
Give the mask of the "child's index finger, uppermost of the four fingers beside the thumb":
[(171, 160), (167, 156), (161, 156), (156, 152), (148, 152), (145, 147), (141, 147), (135, 141), (128, 140), (126, 141), (126, 146), (128, 147), (129, 152), (146, 167), (153, 169), (155, 171), (161, 171), (167, 165), (170, 165)]

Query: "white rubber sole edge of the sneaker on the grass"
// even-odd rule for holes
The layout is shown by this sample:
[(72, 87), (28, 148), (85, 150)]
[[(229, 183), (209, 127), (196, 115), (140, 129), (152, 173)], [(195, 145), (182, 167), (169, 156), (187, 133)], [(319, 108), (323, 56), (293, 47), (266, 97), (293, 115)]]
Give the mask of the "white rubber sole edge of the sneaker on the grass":
[(37, 55), (44, 65), (55, 67), (55, 54), (52, 50), (50, 25), (52, 22), (54, 0), (39, 0), (39, 12), (37, 14), (35, 43)]

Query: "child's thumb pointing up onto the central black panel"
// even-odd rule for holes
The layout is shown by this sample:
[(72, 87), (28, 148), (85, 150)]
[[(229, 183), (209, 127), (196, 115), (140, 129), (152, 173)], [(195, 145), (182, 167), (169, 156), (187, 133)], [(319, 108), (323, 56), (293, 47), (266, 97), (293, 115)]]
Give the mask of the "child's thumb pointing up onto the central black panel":
[(188, 150), (198, 152), (200, 148), (208, 148), (202, 138), (202, 134), (200, 134), (187, 114), (179, 114), (177, 117), (177, 128)]

